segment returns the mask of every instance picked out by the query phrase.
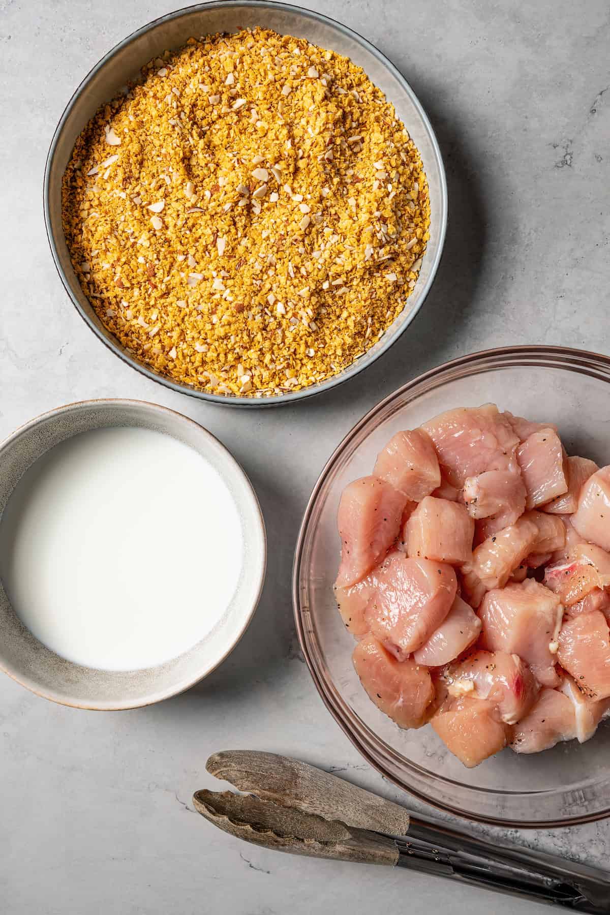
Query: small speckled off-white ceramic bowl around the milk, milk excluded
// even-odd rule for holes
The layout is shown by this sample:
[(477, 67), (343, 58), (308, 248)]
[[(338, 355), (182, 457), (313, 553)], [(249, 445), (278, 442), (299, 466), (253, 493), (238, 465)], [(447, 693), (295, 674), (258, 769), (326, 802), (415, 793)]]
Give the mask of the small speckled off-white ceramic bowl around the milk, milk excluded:
[(241, 639), (262, 590), (266, 563), (264, 522), (245, 473), (218, 439), (187, 416), (157, 404), (94, 400), (61, 406), (21, 426), (0, 445), (0, 522), (6, 502), (27, 468), (49, 448), (90, 429), (138, 426), (173, 436), (209, 461), (227, 485), (241, 521), (244, 555), (234, 596), (213, 630), (171, 661), (136, 671), (102, 671), (66, 661), (39, 642), (17, 618), (0, 582), (0, 670), (37, 695), (91, 709), (151, 705), (196, 684)]

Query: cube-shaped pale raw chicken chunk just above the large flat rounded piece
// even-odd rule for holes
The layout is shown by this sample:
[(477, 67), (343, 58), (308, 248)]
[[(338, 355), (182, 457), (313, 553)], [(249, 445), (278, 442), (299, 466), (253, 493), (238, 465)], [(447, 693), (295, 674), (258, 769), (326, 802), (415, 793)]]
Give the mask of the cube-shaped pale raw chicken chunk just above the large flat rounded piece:
[(472, 559), (475, 522), (463, 505), (426, 496), (412, 512), (403, 540), (407, 554), (461, 565)]

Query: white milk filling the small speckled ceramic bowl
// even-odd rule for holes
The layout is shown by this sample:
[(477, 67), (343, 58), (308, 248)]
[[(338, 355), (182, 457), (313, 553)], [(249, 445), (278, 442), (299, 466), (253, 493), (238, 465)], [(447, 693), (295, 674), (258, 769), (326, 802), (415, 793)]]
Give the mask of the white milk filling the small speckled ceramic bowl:
[(166, 662), (230, 604), (236, 506), (198, 452), (149, 429), (81, 433), (27, 470), (0, 519), (0, 578), (48, 648), (103, 670)]

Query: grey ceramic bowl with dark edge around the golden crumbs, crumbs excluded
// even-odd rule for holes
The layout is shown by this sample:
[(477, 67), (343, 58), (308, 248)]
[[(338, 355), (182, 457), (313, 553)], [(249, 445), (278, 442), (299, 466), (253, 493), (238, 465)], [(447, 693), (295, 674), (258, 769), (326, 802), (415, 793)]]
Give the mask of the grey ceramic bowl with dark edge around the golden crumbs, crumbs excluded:
[[(331, 48), (339, 54), (347, 55), (366, 71), (370, 80), (393, 102), (396, 113), (420, 151), (428, 178), (431, 207), (430, 240), (419, 278), (407, 306), (383, 337), (347, 369), (324, 382), (310, 385), (302, 391), (260, 398), (197, 391), (166, 378), (137, 360), (104, 328), (82, 292), (70, 263), (61, 225), (61, 179), (77, 137), (99, 106), (110, 101), (128, 81), (137, 76), (145, 63), (166, 49), (180, 48), (192, 36), (255, 26), (272, 28), (284, 35), (306, 38), (322, 48)], [(377, 48), (348, 27), (298, 6), (257, 0), (230, 0), (189, 6), (155, 19), (155, 22), (148, 23), (125, 38), (95, 65), (68, 102), (53, 136), (45, 173), (44, 206), (48, 241), (61, 281), (80, 317), (115, 355), (173, 391), (191, 394), (214, 404), (257, 407), (291, 403), (346, 382), (379, 359), (399, 339), (423, 306), (441, 260), (447, 223), (447, 188), (443, 159), (426, 113), (409, 83)]]

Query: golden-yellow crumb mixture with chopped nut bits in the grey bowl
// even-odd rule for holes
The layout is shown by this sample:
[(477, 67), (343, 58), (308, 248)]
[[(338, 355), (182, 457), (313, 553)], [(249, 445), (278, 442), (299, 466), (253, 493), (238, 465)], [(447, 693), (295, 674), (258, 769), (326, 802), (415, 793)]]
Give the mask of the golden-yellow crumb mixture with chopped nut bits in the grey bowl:
[(74, 147), (72, 264), (102, 323), (174, 381), (264, 396), (346, 368), (412, 292), (419, 153), (363, 70), (256, 28), (151, 61)]

